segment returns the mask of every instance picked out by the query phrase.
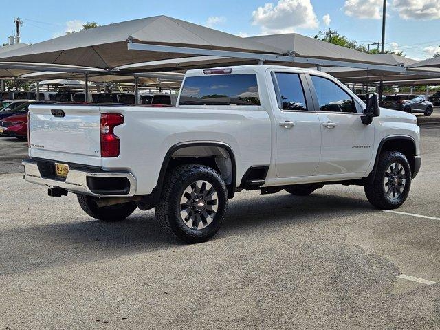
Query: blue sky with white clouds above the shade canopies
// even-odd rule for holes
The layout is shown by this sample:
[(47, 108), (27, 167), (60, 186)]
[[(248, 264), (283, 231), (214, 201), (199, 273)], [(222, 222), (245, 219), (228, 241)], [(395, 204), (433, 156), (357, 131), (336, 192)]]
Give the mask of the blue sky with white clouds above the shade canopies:
[[(14, 17), (23, 19), (23, 43), (38, 43), (77, 31), (87, 21), (104, 25), (157, 15), (239, 36), (289, 32), (315, 36), (331, 28), (359, 44), (377, 42), (382, 37), (383, 0), (2, 0), (1, 3), (1, 43), (7, 43), (14, 31)], [(388, 0), (387, 3), (387, 49), (403, 51), (415, 59), (430, 58), (440, 52), (437, 33), (440, 0)]]

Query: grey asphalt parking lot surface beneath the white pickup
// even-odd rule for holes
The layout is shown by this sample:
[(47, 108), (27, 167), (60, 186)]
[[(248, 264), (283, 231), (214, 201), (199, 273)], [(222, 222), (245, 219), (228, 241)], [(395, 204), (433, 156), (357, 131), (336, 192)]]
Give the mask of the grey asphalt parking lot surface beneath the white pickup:
[(419, 124), (404, 214), (356, 186), (241, 192), (198, 245), (151, 211), (94, 221), (0, 159), (0, 329), (440, 329), (440, 111)]

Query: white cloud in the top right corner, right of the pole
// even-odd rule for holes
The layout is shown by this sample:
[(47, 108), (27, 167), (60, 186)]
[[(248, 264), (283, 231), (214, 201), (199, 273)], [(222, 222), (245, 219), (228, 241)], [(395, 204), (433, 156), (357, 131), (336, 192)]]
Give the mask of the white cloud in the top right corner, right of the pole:
[(393, 0), (402, 19), (439, 19), (440, 0)]

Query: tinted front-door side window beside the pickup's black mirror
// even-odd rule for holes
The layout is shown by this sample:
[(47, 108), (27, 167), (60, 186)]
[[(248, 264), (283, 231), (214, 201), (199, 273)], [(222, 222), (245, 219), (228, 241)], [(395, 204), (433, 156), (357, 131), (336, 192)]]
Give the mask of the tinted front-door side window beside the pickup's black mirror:
[(311, 76), (321, 111), (357, 112), (353, 98), (331, 80)]

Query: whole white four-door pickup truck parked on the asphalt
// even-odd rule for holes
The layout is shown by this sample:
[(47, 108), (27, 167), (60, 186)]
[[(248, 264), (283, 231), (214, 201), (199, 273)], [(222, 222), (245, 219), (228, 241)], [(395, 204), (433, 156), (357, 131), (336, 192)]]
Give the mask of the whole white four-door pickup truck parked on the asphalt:
[(27, 181), (53, 197), (73, 192), (102, 221), (155, 208), (187, 243), (216, 234), (243, 189), (305, 196), (355, 184), (373, 206), (398, 208), (421, 165), (414, 115), (306, 69), (192, 70), (176, 107), (30, 108)]

